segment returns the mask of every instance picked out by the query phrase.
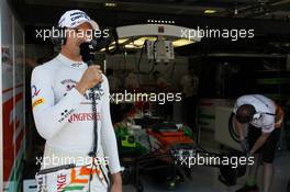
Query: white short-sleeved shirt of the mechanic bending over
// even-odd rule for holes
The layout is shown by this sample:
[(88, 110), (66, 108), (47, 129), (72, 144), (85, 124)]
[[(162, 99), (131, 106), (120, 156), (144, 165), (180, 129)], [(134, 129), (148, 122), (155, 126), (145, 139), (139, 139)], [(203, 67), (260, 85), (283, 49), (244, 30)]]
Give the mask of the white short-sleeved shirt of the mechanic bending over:
[[(258, 120), (253, 120), (252, 125), (260, 127), (264, 133), (271, 133), (275, 129), (276, 104), (272, 100), (260, 94), (248, 94), (237, 99), (233, 112), (236, 114), (237, 109), (243, 104), (254, 105), (257, 113), (261, 116)], [(266, 114), (269, 113), (269, 114)]]

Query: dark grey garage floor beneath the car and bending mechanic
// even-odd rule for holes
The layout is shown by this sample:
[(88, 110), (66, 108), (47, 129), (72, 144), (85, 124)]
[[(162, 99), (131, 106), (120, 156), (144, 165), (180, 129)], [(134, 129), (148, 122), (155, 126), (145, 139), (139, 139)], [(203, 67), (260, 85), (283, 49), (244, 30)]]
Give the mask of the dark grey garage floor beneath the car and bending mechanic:
[[(275, 160), (275, 178), (272, 192), (286, 192), (287, 183), (290, 180), (290, 151), (283, 150), (277, 153)], [(261, 167), (258, 176), (261, 176)], [(192, 168), (192, 179), (186, 179), (185, 183), (178, 185), (174, 192), (234, 192), (243, 187), (245, 178), (241, 178), (237, 181), (236, 187), (226, 187), (217, 179), (219, 169), (209, 167), (194, 167)], [(144, 192), (164, 192), (169, 191), (160, 189), (158, 183), (154, 183), (149, 178), (142, 178), (144, 184)], [(260, 181), (259, 181), (260, 183)], [(260, 185), (260, 184), (259, 184)], [(123, 191), (135, 192), (132, 185), (124, 185)]]

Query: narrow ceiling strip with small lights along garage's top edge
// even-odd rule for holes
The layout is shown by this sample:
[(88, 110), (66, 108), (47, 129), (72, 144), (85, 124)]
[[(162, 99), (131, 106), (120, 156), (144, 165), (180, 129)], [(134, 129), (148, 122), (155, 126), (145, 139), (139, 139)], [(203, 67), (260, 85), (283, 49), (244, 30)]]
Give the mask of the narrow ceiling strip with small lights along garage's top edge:
[[(289, 20), (290, 0), (11, 0), (18, 9), (54, 7), (94, 9), (109, 12), (164, 13)], [(105, 5), (105, 3), (111, 3)], [(113, 5), (113, 7), (112, 7)], [(204, 11), (214, 13), (205, 14)], [(49, 10), (54, 12), (54, 9)], [(42, 15), (38, 15), (42, 16)]]

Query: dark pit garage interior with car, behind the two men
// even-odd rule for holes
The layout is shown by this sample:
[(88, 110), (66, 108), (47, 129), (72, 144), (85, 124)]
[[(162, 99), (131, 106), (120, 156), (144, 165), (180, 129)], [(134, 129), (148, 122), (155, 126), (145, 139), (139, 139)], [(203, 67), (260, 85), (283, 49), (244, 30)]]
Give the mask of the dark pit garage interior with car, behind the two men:
[[(45, 139), (32, 113), (31, 75), (60, 50), (37, 32), (76, 9), (110, 31), (94, 63), (110, 83), (124, 192), (241, 189), (247, 168), (185, 168), (177, 156), (241, 155), (231, 114), (245, 94), (285, 112), (270, 191), (290, 191), (289, 0), (1, 0), (0, 9), (0, 191), (36, 191)], [(136, 101), (137, 93), (155, 97)]]

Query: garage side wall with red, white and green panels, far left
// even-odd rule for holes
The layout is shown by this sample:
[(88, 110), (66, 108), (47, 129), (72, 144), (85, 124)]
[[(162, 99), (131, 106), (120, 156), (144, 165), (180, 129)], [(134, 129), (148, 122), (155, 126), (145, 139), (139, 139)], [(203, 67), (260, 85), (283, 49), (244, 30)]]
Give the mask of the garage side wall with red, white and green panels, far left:
[[(20, 191), (24, 158), (24, 31), (7, 1), (1, 1), (0, 180), (3, 191)], [(2, 191), (2, 189), (0, 189)]]

